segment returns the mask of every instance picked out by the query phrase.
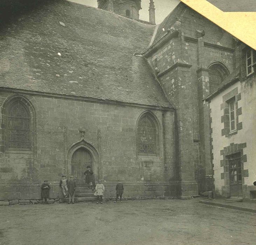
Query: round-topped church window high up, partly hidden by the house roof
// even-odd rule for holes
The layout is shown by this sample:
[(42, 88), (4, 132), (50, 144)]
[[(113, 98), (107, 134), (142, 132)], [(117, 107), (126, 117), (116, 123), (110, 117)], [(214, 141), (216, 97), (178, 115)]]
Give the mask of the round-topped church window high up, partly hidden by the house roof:
[(209, 90), (210, 93), (218, 89), (224, 79), (229, 75), (226, 67), (220, 63), (214, 63), (209, 67)]

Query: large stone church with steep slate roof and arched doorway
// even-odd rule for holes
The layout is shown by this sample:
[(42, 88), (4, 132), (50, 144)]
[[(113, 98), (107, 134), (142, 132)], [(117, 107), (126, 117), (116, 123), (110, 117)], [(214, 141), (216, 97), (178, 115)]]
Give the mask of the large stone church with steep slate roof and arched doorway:
[[(155, 25), (140, 0), (2, 8), (0, 200), (40, 198), (61, 175), (105, 196), (190, 197), (213, 190), (208, 102), (235, 70), (235, 38), (184, 3)], [(3, 11), (3, 9), (5, 9)]]

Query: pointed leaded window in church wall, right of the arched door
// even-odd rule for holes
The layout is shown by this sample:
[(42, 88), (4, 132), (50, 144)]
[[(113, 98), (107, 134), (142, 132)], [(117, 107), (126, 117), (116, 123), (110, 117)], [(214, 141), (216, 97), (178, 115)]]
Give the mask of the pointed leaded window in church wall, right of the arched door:
[(152, 119), (145, 115), (139, 120), (137, 127), (139, 155), (156, 155), (156, 130)]

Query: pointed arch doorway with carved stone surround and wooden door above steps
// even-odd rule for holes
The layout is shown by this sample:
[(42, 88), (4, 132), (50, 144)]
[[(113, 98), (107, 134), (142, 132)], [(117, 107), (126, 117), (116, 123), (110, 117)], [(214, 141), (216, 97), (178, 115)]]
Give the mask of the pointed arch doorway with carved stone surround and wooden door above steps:
[(94, 179), (98, 177), (99, 155), (97, 150), (91, 144), (82, 139), (74, 143), (68, 151), (68, 175), (73, 175), (76, 183), (80, 186), (85, 184), (85, 172), (88, 165), (94, 172)]

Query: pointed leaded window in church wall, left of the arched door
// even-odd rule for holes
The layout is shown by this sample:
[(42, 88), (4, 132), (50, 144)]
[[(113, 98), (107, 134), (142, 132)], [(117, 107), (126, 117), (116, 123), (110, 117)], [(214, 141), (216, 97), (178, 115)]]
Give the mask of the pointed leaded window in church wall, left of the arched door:
[(30, 150), (30, 116), (21, 102), (15, 102), (7, 111), (7, 149)]

